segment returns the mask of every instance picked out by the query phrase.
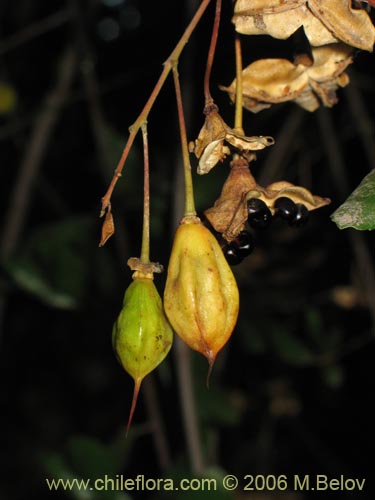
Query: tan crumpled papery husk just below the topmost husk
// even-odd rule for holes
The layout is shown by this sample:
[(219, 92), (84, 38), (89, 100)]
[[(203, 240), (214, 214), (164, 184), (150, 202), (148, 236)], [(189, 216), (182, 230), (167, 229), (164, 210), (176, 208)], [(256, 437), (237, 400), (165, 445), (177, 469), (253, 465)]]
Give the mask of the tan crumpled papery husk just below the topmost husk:
[[(331, 107), (337, 102), (336, 90), (349, 83), (345, 69), (353, 62), (353, 49), (343, 43), (316, 47), (314, 64), (294, 65), (286, 59), (260, 59), (242, 73), (243, 105), (256, 113), (270, 105), (295, 101), (308, 111), (322, 103)], [(236, 80), (220, 87), (235, 99)]]

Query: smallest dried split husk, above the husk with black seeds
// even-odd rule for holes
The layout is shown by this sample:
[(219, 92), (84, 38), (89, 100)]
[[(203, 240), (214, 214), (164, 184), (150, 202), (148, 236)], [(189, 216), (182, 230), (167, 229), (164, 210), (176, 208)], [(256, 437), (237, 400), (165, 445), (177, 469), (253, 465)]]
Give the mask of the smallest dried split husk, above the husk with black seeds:
[(190, 152), (199, 158), (198, 174), (207, 174), (215, 165), (230, 154), (229, 145), (241, 153), (259, 151), (274, 144), (269, 136), (246, 137), (229, 127), (218, 112), (216, 106), (206, 114), (206, 119), (198, 138), (190, 143)]

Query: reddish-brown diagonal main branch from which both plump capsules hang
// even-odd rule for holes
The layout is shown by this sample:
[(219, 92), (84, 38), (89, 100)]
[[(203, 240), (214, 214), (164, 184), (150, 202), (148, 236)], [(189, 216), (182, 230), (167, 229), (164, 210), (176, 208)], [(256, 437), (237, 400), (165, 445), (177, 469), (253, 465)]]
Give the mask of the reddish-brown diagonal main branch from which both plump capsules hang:
[(154, 102), (159, 95), (160, 90), (162, 89), (169, 72), (173, 68), (173, 66), (177, 63), (181, 52), (183, 51), (185, 45), (189, 41), (189, 38), (193, 31), (195, 30), (197, 24), (199, 23), (201, 17), (203, 16), (206, 8), (208, 7), (209, 3), (211, 0), (202, 0), (202, 3), (200, 4), (198, 10), (196, 11), (193, 19), (190, 21), (188, 27), (184, 31), (182, 37), (180, 38), (179, 42), (177, 43), (176, 47), (173, 49), (171, 52), (170, 56), (164, 63), (164, 68), (163, 71), (161, 72), (161, 75), (159, 77), (159, 80), (157, 81), (153, 91), (151, 92), (151, 95), (146, 102), (143, 110), (141, 111), (140, 115), (136, 119), (136, 121), (129, 127), (129, 137), (127, 140), (127, 143), (125, 145), (124, 151), (121, 155), (120, 161), (117, 164), (117, 167), (115, 169), (115, 173), (113, 175), (112, 181), (107, 189), (106, 194), (102, 198), (102, 209), (100, 215), (103, 216), (107, 207), (109, 206), (111, 202), (111, 196), (113, 193), (113, 190), (117, 184), (118, 179), (121, 177), (121, 172), (122, 169), (124, 168), (125, 161), (128, 157), (129, 151), (133, 145), (135, 136), (137, 135), (140, 127), (144, 122), (147, 121), (147, 117), (152, 109), (152, 106), (154, 105)]

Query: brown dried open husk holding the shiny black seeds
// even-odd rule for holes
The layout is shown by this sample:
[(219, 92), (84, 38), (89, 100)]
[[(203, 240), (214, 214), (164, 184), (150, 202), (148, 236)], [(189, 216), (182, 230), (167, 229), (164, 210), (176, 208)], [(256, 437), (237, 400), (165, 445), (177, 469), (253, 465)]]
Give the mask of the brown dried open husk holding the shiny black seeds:
[(219, 198), (204, 214), (212, 227), (230, 242), (245, 228), (249, 199), (264, 201), (274, 215), (275, 201), (284, 196), (295, 203), (302, 203), (308, 210), (316, 210), (331, 202), (329, 198), (313, 195), (308, 189), (287, 181), (273, 182), (264, 188), (254, 179), (249, 163), (239, 158), (231, 162), (231, 169)]

